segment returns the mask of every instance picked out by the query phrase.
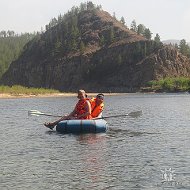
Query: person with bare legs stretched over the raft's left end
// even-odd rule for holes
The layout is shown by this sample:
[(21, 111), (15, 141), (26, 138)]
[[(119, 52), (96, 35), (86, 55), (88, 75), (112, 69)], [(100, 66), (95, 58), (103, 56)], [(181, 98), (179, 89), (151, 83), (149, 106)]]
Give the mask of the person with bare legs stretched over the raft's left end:
[(91, 119), (91, 105), (87, 99), (86, 92), (84, 90), (79, 90), (77, 98), (79, 101), (76, 104), (74, 110), (69, 115), (65, 115), (54, 122), (44, 123), (44, 125), (50, 129), (53, 129), (53, 127), (62, 120)]

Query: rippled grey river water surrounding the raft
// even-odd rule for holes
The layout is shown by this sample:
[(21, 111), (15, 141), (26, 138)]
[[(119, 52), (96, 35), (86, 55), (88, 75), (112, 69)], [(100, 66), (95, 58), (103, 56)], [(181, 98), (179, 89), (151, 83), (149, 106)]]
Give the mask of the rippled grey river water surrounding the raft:
[(62, 135), (43, 126), (75, 97), (0, 99), (0, 189), (190, 189), (190, 94), (105, 97), (105, 134)]

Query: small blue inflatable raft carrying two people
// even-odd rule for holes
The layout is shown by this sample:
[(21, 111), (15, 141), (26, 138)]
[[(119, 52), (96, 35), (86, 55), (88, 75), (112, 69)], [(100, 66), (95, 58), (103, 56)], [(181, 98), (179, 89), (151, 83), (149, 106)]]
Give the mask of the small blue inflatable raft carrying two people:
[(65, 120), (56, 126), (59, 133), (103, 133), (108, 128), (104, 119), (97, 120)]

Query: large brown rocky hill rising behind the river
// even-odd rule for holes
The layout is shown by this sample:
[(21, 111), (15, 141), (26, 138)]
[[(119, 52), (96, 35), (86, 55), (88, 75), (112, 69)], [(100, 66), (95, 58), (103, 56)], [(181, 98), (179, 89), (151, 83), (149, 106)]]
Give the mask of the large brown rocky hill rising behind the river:
[(146, 40), (109, 13), (68, 16), (29, 42), (1, 84), (91, 92), (135, 92), (150, 80), (190, 77), (190, 60)]

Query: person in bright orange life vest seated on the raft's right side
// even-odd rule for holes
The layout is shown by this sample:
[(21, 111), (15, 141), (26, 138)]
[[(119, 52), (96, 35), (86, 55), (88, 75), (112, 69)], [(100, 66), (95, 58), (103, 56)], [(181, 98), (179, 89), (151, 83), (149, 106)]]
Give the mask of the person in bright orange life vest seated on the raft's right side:
[(98, 94), (96, 98), (90, 100), (92, 118), (100, 117), (104, 109), (104, 94)]

